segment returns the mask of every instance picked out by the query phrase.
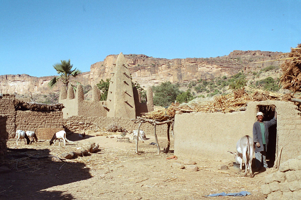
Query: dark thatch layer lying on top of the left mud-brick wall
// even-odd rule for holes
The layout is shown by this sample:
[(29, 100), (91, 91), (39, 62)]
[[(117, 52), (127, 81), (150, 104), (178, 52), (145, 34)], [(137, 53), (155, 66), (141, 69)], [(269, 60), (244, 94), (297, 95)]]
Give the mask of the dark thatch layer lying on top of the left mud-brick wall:
[(45, 104), (45, 103), (29, 103), (24, 101), (15, 101), (16, 110), (32, 110), (32, 111), (61, 111), (64, 108), (62, 103)]

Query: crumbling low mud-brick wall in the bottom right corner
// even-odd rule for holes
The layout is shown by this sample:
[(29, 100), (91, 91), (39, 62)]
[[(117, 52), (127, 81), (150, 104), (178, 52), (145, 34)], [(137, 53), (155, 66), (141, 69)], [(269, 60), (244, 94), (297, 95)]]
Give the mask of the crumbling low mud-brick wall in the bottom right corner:
[(265, 177), (261, 190), (266, 199), (301, 199), (301, 156), (281, 163), (277, 172)]

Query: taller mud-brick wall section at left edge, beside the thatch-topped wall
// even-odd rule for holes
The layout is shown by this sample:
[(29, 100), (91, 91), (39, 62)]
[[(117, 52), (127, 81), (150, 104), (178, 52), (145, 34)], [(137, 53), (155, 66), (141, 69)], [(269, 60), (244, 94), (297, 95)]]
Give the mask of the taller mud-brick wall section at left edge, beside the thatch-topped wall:
[(9, 94), (3, 94), (0, 96), (0, 115), (6, 116), (6, 132), (8, 138), (15, 136), (15, 96)]

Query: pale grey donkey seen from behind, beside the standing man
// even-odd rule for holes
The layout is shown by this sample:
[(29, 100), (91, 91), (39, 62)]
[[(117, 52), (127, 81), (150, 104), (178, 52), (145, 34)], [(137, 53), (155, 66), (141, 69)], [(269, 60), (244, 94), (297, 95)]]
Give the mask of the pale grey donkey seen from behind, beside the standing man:
[(254, 174), (252, 172), (252, 159), (255, 151), (255, 144), (252, 137), (245, 135), (241, 137), (237, 143), (236, 143), (236, 150), (237, 152), (232, 154), (235, 155), (235, 161), (236, 163), (240, 164), (240, 170), (242, 170), (242, 159), (244, 160), (244, 166), (245, 166), (245, 172), (244, 176), (247, 175), (247, 172), (249, 170), (250, 177), (253, 178)]

